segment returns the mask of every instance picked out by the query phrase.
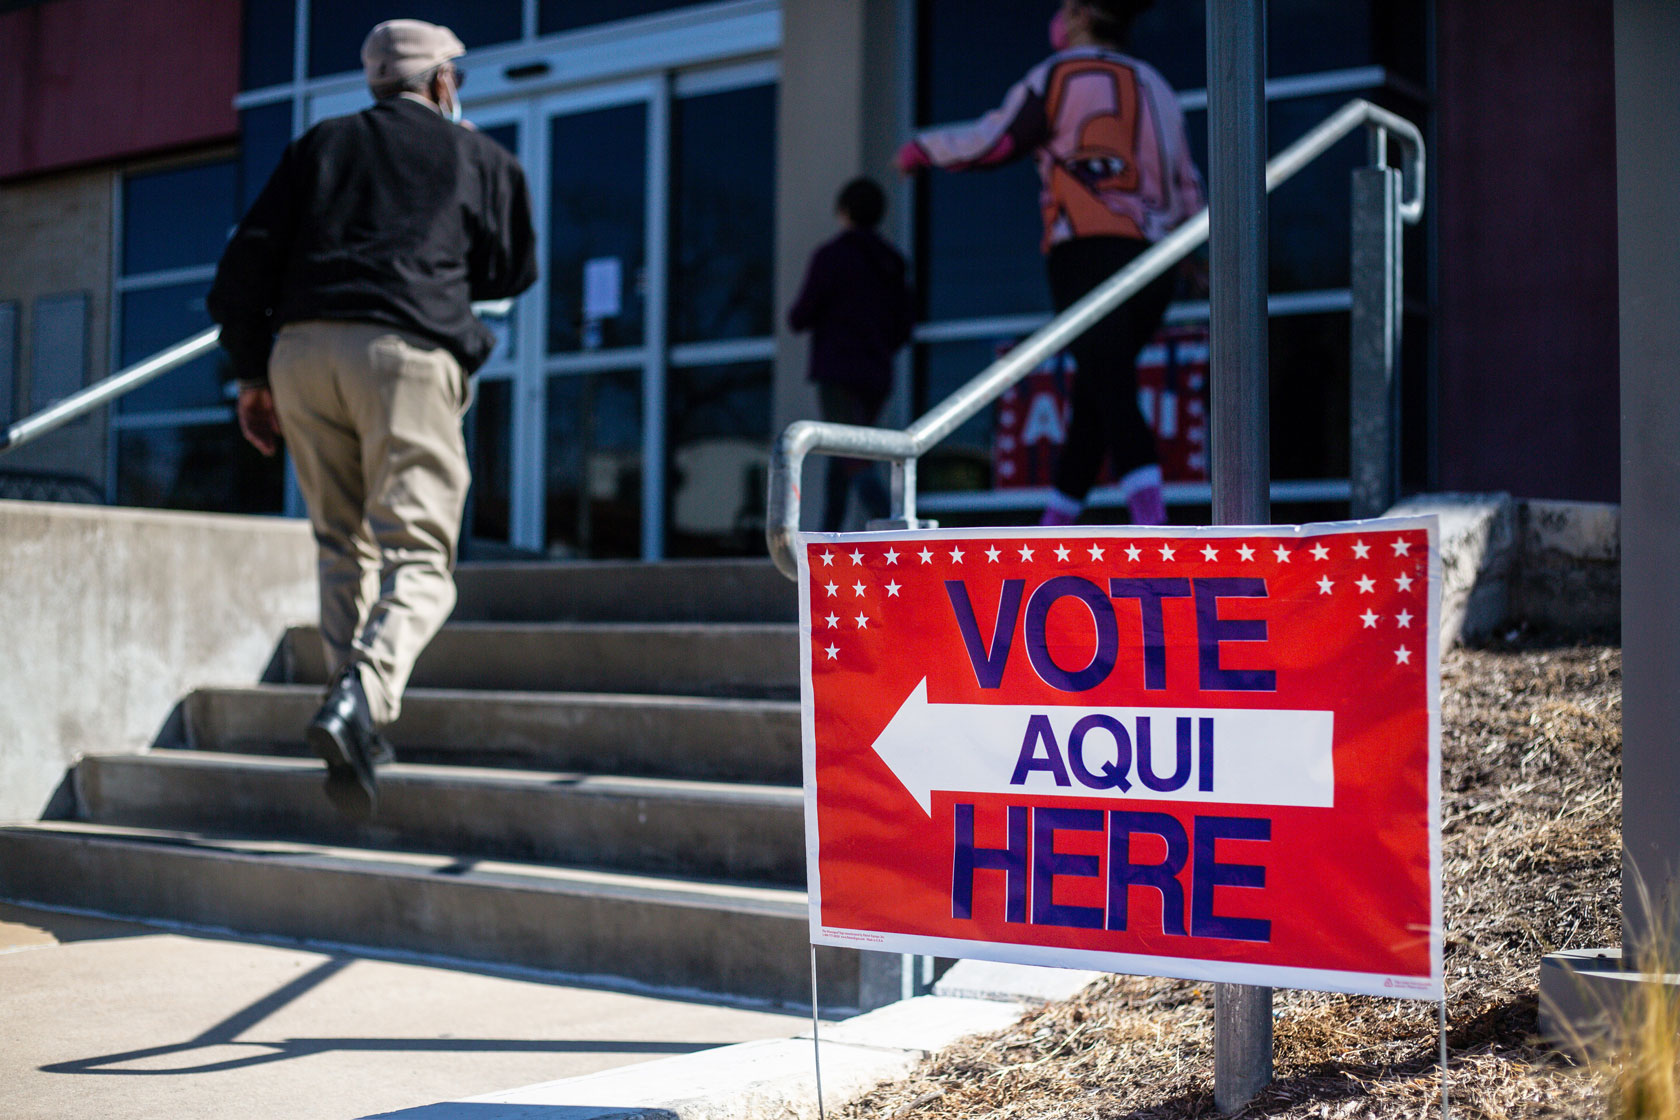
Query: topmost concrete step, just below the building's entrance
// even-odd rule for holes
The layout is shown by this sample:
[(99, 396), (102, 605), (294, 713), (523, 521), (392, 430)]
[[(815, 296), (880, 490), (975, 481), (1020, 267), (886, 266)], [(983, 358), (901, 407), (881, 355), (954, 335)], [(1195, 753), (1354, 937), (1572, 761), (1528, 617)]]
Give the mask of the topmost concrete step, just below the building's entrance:
[(455, 588), (455, 621), (798, 621), (793, 581), (763, 559), (462, 564)]

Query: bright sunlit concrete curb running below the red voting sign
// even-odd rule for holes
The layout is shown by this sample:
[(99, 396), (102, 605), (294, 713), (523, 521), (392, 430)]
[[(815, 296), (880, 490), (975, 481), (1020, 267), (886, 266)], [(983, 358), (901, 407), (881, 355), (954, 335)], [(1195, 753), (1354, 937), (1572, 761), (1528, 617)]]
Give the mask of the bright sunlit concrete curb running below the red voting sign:
[[(978, 967), (976, 967), (978, 966)], [(822, 1095), (838, 1108), (904, 1076), (926, 1055), (1000, 1031), (1028, 1004), (1072, 996), (1099, 972), (963, 960), (951, 991), (917, 996), (820, 1028)], [(811, 1033), (719, 1046), (563, 1081), (438, 1102), (363, 1120), (805, 1120), (818, 1115)]]

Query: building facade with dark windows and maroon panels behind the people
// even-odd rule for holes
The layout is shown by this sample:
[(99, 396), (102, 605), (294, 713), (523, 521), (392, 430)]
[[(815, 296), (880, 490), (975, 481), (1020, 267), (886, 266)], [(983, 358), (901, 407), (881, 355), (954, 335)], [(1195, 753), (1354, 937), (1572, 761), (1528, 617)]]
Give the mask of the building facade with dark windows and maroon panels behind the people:
[[(1047, 52), (1053, 7), (0, 0), (0, 421), (203, 329), (220, 245), (281, 149), (368, 102), (361, 39), (412, 15), (469, 45), (467, 116), (521, 156), (541, 235), (543, 277), (492, 321), (467, 420), (467, 554), (761, 552), (768, 445), (815, 415), (785, 311), (842, 183), (889, 186), (887, 232), (914, 262), (921, 324), (892, 421), (1048, 317), (1032, 168), (911, 183), (892, 153), (917, 124), (998, 104)], [(1179, 91), (1205, 166), (1203, 7), (1158, 0), (1132, 50)], [(1426, 218), (1406, 235), (1406, 487), (1613, 500), (1608, 10), (1272, 0), (1268, 35), (1273, 151), (1349, 97), (1430, 141)], [(1272, 198), (1280, 519), (1346, 510), (1347, 180), (1364, 158), (1349, 138)], [(1169, 321), (1183, 346), (1158, 411), (1169, 390), (1205, 391), (1205, 299), (1186, 289)], [(217, 373), (200, 359), (0, 458), (0, 494), (47, 477), (126, 505), (297, 512)], [(924, 460), (924, 510), (1035, 516), (1016, 411), (988, 408)], [(1173, 489), (1188, 521), (1206, 512), (1193, 458)]]

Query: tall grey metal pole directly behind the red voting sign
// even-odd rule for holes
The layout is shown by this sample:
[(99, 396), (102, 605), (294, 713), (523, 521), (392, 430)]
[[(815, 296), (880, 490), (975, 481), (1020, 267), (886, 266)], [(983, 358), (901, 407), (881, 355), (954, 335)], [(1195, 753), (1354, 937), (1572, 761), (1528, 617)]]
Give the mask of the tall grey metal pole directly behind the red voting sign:
[[(1265, 0), (1208, 0), (1213, 521), (1272, 517), (1267, 385)], [(1272, 1080), (1272, 989), (1213, 987), (1213, 1102)]]

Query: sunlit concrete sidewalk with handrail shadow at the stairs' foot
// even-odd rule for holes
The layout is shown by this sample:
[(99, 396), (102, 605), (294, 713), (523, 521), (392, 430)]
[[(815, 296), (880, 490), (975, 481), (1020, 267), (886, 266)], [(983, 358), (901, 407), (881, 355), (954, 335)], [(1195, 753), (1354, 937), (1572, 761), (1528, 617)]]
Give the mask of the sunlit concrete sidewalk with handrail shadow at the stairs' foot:
[(0, 905), (7, 1120), (348, 1120), (801, 1029), (536, 974)]

